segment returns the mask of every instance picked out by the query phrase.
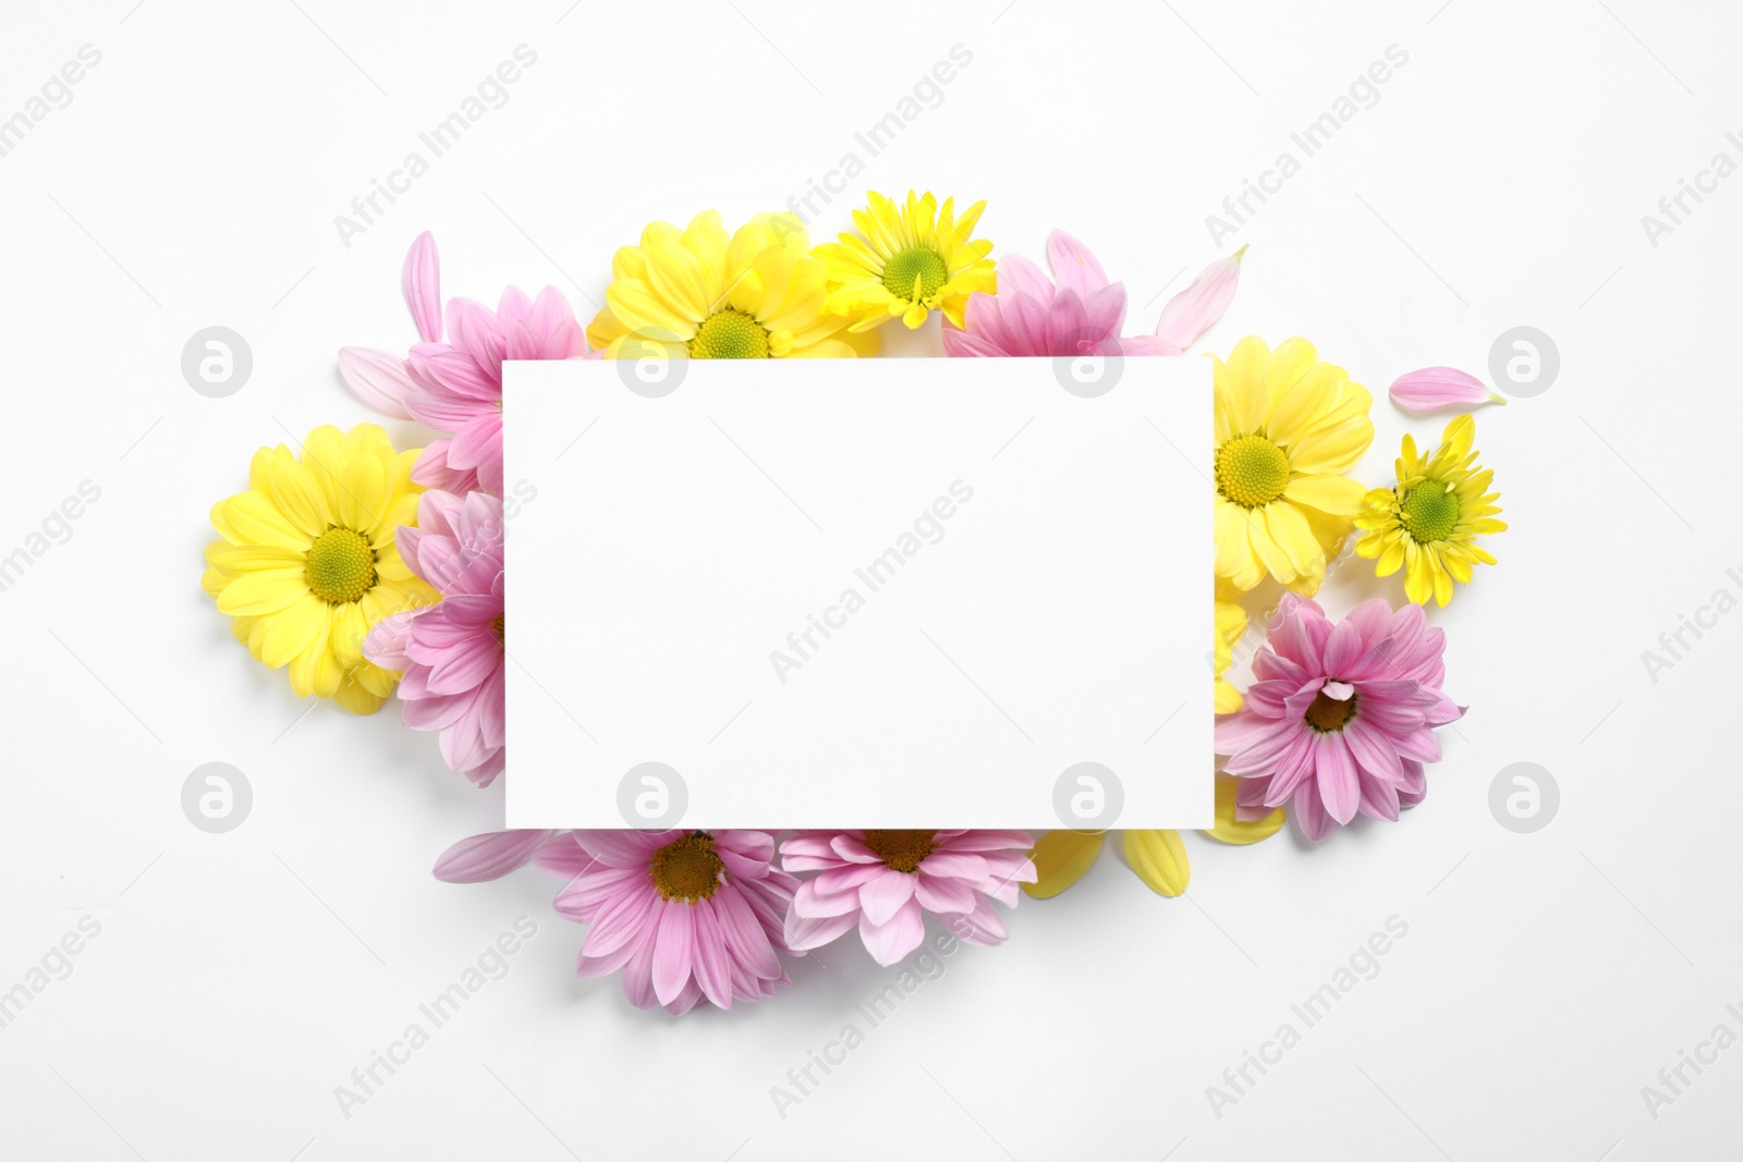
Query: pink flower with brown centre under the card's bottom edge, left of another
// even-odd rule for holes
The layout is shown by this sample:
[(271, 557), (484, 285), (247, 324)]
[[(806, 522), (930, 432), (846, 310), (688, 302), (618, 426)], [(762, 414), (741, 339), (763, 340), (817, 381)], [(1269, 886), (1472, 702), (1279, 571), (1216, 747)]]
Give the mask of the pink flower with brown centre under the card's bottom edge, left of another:
[(791, 984), (776, 953), (798, 882), (772, 859), (769, 831), (572, 831), (535, 855), (568, 876), (556, 909), (591, 925), (575, 970), (622, 969), (633, 1005), (673, 1014)]

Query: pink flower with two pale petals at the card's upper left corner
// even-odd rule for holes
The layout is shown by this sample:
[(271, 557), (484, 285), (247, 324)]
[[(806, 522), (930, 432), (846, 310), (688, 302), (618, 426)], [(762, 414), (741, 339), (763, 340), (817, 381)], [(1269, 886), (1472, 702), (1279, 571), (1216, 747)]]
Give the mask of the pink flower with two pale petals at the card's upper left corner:
[(448, 300), (443, 341), (441, 267), (436, 239), (424, 232), (406, 254), (406, 305), (422, 343), (399, 359), (390, 352), (343, 347), (340, 375), (363, 402), (401, 420), (417, 420), (448, 439), (431, 441), (411, 479), (451, 493), (502, 493), (502, 361), (579, 359), (587, 352), (575, 312), (547, 286), (537, 300), (507, 287), (497, 310), (469, 298)]

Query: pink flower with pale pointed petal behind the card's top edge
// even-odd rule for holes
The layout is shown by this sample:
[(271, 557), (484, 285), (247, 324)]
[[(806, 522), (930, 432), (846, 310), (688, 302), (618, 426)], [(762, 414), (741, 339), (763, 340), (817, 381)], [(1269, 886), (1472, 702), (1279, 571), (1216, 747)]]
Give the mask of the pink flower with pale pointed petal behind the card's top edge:
[[(1246, 247), (1243, 246), (1241, 251)], [(950, 355), (1178, 355), (1222, 317), (1241, 277), (1241, 254), (1211, 263), (1163, 307), (1156, 334), (1121, 336), (1126, 287), (1109, 282), (1082, 242), (1048, 237), (1055, 279), (1021, 256), (999, 260), (999, 293), (971, 294), (962, 328), (945, 324)]]

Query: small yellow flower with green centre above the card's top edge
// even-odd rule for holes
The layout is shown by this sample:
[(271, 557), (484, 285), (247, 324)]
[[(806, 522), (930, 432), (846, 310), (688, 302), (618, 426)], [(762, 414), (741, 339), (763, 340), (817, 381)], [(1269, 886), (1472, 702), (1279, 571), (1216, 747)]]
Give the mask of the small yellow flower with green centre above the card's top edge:
[(908, 190), (896, 206), (882, 193), (866, 193), (866, 209), (854, 211), (859, 233), (844, 233), (814, 253), (830, 267), (828, 310), (852, 319), (854, 331), (870, 331), (901, 315), (908, 328), (926, 322), (931, 310), (962, 326), (969, 294), (997, 289), (992, 242), (974, 237), (987, 202), (974, 202), (960, 218), (955, 199), (943, 207), (931, 193)]

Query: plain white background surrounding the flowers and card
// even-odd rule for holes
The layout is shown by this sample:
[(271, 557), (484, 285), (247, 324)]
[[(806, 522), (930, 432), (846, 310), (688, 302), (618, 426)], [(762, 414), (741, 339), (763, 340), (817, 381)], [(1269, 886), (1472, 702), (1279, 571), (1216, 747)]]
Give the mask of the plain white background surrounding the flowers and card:
[[(1743, 998), (1743, 620), (1656, 685), (1640, 653), (1740, 591), (1743, 178), (1658, 247), (1640, 216), (1715, 152), (1738, 157), (1740, 35), (1729, 5), (1640, 0), (12, 5), (0, 115), (80, 45), (103, 61), (0, 159), (0, 547), (84, 479), (103, 498), (0, 594), (0, 984), (80, 916), (101, 936), (0, 1030), (0, 1153), (1734, 1153), (1743, 1051), (1656, 1120), (1640, 1089), (1720, 1021), (1743, 1031), (1726, 1014)], [(539, 63), (509, 105), (345, 249), (333, 216), (523, 42)], [(1065, 897), (1025, 901), (1007, 946), (945, 962), (781, 1120), (770, 1085), (894, 970), (840, 944), (777, 1000), (683, 1021), (575, 981), (580, 932), (551, 915), (551, 880), (427, 873), (500, 819), (500, 789), (441, 770), (392, 709), (305, 716), (200, 594), (204, 514), (256, 444), (288, 439), (279, 423), (366, 418), (333, 352), (410, 341), (397, 275), (418, 230), (448, 293), (549, 280), (587, 312), (643, 221), (779, 207), (953, 44), (973, 64), (856, 186), (988, 197), (999, 253), (1070, 228), (1129, 287), (1135, 329), (1251, 242), (1215, 350), (1307, 334), (1379, 394), (1422, 364), (1480, 371), (1530, 324), (1562, 375), (1478, 420), (1513, 528), (1501, 566), (1434, 613), (1471, 713), (1419, 810), (1314, 850), (1189, 836), (1177, 901), (1105, 855)], [(1204, 216), (1391, 44), (1410, 61), (1379, 105), (1213, 247)], [(254, 352), (230, 401), (180, 373), (213, 324)], [(1403, 430), (1440, 429), (1384, 399), (1375, 418), (1372, 483)], [(1337, 584), (1326, 601), (1367, 589), (1396, 599)], [(180, 808), (211, 760), (254, 786), (223, 836)], [(1489, 812), (1513, 761), (1560, 782), (1537, 834)], [(539, 934), (509, 976), (342, 1118), (333, 1087), (519, 915)], [(1206, 1087), (1393, 915), (1410, 930), (1379, 976), (1218, 1120)]]

